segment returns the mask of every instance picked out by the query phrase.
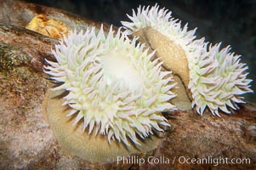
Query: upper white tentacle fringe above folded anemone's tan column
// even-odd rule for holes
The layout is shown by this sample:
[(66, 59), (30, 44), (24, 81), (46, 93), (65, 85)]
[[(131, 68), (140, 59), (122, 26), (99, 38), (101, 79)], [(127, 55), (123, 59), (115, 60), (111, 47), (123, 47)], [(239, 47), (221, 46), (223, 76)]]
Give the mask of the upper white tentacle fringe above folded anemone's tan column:
[(188, 31), (188, 25), (181, 26), (181, 21), (172, 17), (172, 12), (168, 9), (160, 8), (156, 4), (147, 8), (139, 6), (138, 12), (133, 9), (133, 16), (128, 15), (132, 22), (122, 21), (122, 25), (127, 29), (128, 34), (139, 31), (145, 27), (154, 28), (172, 42), (183, 48), (188, 59), (199, 55), (203, 46), (203, 38), (195, 40), (196, 29)]

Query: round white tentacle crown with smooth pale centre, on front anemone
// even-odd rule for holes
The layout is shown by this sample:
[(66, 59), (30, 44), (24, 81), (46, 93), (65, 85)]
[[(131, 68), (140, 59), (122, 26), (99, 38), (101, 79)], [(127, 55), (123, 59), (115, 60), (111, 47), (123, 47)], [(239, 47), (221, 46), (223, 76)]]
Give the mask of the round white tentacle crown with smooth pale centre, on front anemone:
[(169, 126), (161, 112), (175, 109), (168, 102), (175, 96), (171, 72), (161, 71), (162, 63), (143, 48), (120, 29), (105, 36), (102, 27), (74, 31), (55, 45), (57, 62), (47, 60), (46, 72), (63, 82), (54, 90), (69, 92), (63, 105), (72, 109), (68, 116), (76, 115), (73, 125), (83, 121), (88, 133), (127, 145), (128, 138), (139, 144), (137, 134), (145, 139), (152, 129), (162, 131), (159, 124)]

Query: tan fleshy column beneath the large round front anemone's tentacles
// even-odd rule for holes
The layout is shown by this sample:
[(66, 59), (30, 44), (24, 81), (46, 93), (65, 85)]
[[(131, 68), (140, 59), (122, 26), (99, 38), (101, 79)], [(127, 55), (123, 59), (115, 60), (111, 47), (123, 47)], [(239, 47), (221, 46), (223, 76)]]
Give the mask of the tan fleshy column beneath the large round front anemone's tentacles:
[(129, 156), (136, 153), (145, 153), (154, 150), (162, 142), (162, 138), (151, 135), (145, 140), (140, 140), (140, 146), (136, 146), (129, 141), (131, 147), (117, 141), (109, 144), (107, 136), (100, 134), (94, 135), (94, 132), (88, 134), (88, 130), (83, 132), (83, 121), (78, 122), (73, 127), (76, 116), (67, 117), (70, 112), (68, 106), (61, 106), (65, 102), (60, 92), (48, 91), (44, 99), (44, 112), (48, 123), (54, 132), (55, 138), (65, 150), (73, 156), (79, 156), (84, 160), (104, 164), (111, 161), (117, 161), (117, 156)]

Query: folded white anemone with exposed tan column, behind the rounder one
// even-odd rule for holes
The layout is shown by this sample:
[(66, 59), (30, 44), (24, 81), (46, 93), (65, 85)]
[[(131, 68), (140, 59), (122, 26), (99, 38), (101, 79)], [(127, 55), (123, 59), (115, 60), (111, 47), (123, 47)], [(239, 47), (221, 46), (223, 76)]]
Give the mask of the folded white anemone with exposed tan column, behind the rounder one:
[[(195, 39), (196, 29), (187, 31), (187, 24), (182, 28), (165, 8), (159, 9), (157, 4), (151, 8), (139, 6), (138, 12), (133, 10), (128, 18), (132, 22), (122, 21), (122, 25), (136, 36), (146, 29), (139, 36), (145, 36), (142, 39), (156, 49), (163, 66), (181, 77), (197, 113), (202, 115), (206, 107), (214, 116), (219, 116), (219, 109), (230, 113), (227, 106), (236, 110), (236, 103), (243, 103), (240, 95), (253, 92), (249, 86), (252, 81), (246, 78), (247, 66), (240, 63), (240, 56), (230, 54), (229, 47), (219, 51), (219, 44), (208, 48), (204, 38)], [(151, 31), (153, 36), (149, 35), (149, 28), (155, 30)], [(166, 45), (164, 38), (172, 45)]]

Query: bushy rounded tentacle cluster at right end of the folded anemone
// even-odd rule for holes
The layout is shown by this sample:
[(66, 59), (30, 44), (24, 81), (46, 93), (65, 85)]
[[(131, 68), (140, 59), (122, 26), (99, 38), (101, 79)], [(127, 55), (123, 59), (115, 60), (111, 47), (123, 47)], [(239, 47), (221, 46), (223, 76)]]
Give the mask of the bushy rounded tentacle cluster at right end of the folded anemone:
[(200, 58), (191, 61), (191, 82), (189, 88), (193, 96), (193, 106), (202, 115), (206, 107), (214, 116), (219, 109), (230, 113), (239, 109), (236, 103), (244, 103), (241, 94), (253, 93), (247, 79), (247, 65), (240, 63), (240, 55), (230, 53), (230, 47), (219, 50), (220, 43), (214, 46), (205, 44)]

